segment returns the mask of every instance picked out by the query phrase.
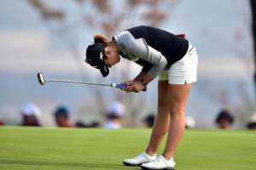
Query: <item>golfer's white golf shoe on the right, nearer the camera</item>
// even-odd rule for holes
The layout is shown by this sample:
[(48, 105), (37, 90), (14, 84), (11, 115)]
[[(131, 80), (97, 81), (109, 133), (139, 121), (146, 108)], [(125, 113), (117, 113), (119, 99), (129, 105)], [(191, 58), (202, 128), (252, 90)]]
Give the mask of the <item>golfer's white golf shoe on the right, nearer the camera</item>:
[(164, 170), (174, 170), (175, 161), (173, 158), (171, 160), (166, 160), (163, 156), (157, 157), (154, 161), (149, 163), (143, 163), (141, 165), (144, 170), (155, 170), (155, 169), (164, 169)]

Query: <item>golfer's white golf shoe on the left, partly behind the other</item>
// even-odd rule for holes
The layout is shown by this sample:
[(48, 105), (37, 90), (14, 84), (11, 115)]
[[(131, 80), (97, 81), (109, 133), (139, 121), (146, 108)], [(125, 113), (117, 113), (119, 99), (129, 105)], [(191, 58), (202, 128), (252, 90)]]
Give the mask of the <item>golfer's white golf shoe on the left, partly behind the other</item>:
[(148, 156), (146, 152), (143, 152), (140, 155), (136, 156), (135, 158), (125, 159), (123, 163), (126, 166), (141, 166), (143, 163), (154, 161), (155, 158), (156, 154), (154, 154), (153, 156)]

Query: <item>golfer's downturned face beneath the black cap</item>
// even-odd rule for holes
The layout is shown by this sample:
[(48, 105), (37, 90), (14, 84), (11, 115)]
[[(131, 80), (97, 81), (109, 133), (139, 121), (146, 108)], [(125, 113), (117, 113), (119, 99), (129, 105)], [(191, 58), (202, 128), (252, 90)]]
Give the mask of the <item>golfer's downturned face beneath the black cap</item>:
[(108, 65), (108, 68), (111, 68), (113, 65), (119, 63), (120, 56), (119, 56), (119, 48), (116, 44), (111, 43), (111, 45), (105, 48), (105, 63)]

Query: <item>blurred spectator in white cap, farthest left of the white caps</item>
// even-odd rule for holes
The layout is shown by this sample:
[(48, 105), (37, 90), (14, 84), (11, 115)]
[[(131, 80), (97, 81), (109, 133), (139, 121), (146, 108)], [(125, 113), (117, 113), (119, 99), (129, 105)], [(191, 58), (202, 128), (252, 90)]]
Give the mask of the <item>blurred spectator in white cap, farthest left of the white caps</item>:
[(26, 103), (26, 105), (21, 108), (21, 115), (23, 116), (22, 126), (41, 126), (39, 123), (41, 111), (39, 110), (38, 105), (35, 105), (32, 102)]

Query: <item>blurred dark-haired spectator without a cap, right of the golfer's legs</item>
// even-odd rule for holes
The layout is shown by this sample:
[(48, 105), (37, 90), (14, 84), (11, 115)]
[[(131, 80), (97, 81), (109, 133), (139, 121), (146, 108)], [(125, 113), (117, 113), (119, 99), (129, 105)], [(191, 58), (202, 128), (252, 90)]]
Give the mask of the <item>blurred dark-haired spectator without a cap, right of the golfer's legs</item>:
[(232, 123), (234, 122), (234, 117), (230, 114), (229, 111), (223, 110), (219, 112), (215, 122), (218, 128), (230, 129)]

